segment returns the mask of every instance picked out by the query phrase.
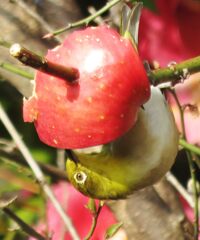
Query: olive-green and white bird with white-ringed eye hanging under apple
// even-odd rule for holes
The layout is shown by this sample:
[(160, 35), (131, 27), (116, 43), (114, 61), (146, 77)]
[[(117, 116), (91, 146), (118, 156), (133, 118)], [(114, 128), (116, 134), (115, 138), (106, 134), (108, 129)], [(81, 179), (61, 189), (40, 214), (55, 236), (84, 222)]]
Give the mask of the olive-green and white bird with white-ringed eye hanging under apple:
[(66, 162), (69, 181), (95, 199), (122, 199), (154, 184), (171, 168), (178, 151), (174, 117), (157, 87), (125, 135), (105, 145), (74, 150)]

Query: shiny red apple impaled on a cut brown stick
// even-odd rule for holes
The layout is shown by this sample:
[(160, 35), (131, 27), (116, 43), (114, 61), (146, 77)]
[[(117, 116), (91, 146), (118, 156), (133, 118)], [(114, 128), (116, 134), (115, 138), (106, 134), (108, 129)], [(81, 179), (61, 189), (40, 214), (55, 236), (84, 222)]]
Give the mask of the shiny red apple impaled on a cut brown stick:
[(79, 70), (77, 82), (37, 71), (25, 122), (47, 145), (74, 149), (112, 141), (136, 122), (150, 83), (131, 41), (109, 26), (74, 31), (46, 58)]

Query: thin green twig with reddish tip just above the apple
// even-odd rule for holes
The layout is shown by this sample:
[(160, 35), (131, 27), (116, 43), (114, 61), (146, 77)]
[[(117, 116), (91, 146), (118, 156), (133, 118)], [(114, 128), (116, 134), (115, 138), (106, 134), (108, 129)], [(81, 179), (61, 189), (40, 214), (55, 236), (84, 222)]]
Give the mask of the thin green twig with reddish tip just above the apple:
[(104, 7), (102, 7), (100, 10), (95, 12), (93, 15), (90, 15), (90, 16), (84, 18), (84, 19), (81, 19), (80, 21), (77, 21), (77, 22), (74, 22), (74, 23), (69, 23), (66, 27), (63, 27), (63, 28), (58, 29), (56, 31), (50, 32), (49, 34), (45, 35), (44, 38), (50, 38), (50, 37), (59, 35), (63, 32), (66, 32), (69, 29), (79, 27), (79, 26), (82, 26), (82, 25), (87, 26), (95, 18), (101, 16), (103, 13), (105, 13), (106, 11), (108, 11), (110, 8), (112, 8), (114, 5), (116, 5), (117, 3), (121, 2), (121, 1), (122, 0), (109, 1)]

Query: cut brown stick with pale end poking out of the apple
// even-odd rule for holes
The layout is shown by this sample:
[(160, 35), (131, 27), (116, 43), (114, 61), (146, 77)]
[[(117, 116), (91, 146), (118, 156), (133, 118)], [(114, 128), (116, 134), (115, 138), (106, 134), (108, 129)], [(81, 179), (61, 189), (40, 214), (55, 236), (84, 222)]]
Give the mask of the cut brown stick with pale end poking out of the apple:
[(18, 43), (15, 43), (10, 47), (10, 54), (27, 66), (54, 77), (62, 78), (69, 83), (73, 83), (79, 78), (78, 69), (50, 62), (46, 58), (22, 47)]

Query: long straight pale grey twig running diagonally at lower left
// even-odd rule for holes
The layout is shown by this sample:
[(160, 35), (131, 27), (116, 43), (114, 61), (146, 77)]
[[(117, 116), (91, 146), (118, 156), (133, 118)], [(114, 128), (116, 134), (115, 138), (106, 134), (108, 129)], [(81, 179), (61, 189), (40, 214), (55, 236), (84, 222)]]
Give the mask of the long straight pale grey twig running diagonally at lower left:
[(51, 188), (46, 183), (45, 177), (44, 177), (42, 171), (40, 170), (38, 164), (36, 163), (36, 161), (31, 156), (30, 151), (28, 150), (25, 143), (22, 141), (19, 133), (17, 132), (17, 130), (13, 126), (12, 122), (8, 118), (6, 112), (4, 111), (4, 109), (1, 105), (0, 105), (0, 119), (3, 123), (3, 125), (5, 126), (5, 128), (7, 129), (7, 131), (9, 132), (9, 134), (11, 135), (11, 137), (13, 138), (13, 140), (15, 141), (16, 145), (20, 149), (20, 151), (23, 154), (25, 160), (29, 164), (30, 168), (34, 172), (35, 177), (38, 180), (38, 182), (40, 183), (42, 190), (45, 192), (45, 194), (48, 196), (48, 198), (51, 200), (54, 207), (56, 208), (56, 210), (60, 214), (60, 217), (62, 218), (63, 222), (65, 223), (65, 225), (67, 227), (67, 229), (69, 230), (69, 233), (71, 234), (71, 236), (73, 237), (74, 240), (80, 240), (80, 238), (79, 238), (79, 236), (76, 232), (76, 229), (72, 225), (71, 219), (65, 214), (63, 208), (61, 207), (61, 205), (59, 204), (59, 202), (55, 198)]

